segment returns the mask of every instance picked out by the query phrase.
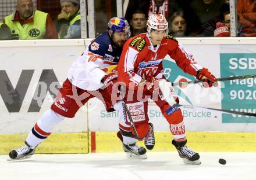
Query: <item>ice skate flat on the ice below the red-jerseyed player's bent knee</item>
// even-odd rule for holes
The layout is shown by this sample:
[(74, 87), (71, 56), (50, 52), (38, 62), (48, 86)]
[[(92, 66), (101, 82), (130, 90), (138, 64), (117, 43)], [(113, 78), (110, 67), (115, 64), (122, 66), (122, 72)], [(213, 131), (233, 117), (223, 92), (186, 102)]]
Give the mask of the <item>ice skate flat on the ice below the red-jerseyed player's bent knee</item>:
[(137, 144), (123, 144), (123, 150), (126, 152), (126, 156), (130, 159), (147, 159), (147, 150)]

